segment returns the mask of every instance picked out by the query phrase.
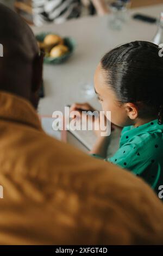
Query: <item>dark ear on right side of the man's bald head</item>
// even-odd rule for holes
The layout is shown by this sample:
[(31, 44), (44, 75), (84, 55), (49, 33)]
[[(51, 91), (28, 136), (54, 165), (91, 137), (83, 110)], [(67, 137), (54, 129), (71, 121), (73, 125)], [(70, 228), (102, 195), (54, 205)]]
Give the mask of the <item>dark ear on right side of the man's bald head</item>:
[(41, 52), (33, 60), (32, 93), (39, 91), (42, 83), (43, 56)]

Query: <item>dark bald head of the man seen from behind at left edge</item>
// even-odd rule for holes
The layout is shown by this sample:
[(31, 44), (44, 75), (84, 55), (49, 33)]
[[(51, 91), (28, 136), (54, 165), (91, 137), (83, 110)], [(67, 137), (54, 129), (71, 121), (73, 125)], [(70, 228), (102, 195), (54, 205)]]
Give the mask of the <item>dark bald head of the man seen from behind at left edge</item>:
[(39, 101), (42, 80), (42, 57), (29, 26), (14, 11), (0, 4), (0, 90), (29, 100)]

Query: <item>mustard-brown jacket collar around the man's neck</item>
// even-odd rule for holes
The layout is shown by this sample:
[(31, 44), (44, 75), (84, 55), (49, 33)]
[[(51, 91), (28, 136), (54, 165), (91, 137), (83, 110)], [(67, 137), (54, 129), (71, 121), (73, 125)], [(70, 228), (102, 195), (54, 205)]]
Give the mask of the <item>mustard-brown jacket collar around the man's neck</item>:
[(0, 120), (18, 122), (42, 130), (31, 103), (23, 97), (0, 91)]

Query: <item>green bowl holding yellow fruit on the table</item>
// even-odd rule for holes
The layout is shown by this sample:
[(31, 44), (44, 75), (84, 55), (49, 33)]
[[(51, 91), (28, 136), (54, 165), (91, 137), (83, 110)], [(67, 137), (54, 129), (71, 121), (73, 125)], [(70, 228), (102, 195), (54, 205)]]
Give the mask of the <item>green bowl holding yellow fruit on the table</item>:
[[(36, 35), (36, 40), (43, 42), (44, 38), (46, 35), (49, 34), (54, 34), (54, 33), (40, 33), (38, 35)], [(55, 34), (57, 35), (57, 34)], [(53, 58), (53, 57), (44, 57), (43, 62), (46, 64), (60, 64), (60, 63), (64, 63), (68, 58), (70, 58), (70, 56), (72, 55), (74, 48), (76, 46), (76, 42), (74, 41), (74, 39), (66, 37), (64, 38), (64, 45), (66, 45), (69, 49), (69, 52), (65, 53), (64, 55), (62, 55), (61, 57), (58, 58)]]

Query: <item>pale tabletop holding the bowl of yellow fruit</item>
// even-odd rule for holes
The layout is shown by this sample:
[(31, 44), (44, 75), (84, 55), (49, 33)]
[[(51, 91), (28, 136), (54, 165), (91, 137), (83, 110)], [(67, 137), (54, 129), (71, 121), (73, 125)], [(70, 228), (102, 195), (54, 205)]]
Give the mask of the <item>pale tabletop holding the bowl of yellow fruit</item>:
[[(61, 36), (71, 36), (77, 42), (76, 51), (66, 63), (44, 65), (43, 77), (46, 96), (40, 100), (39, 113), (52, 115), (55, 110), (64, 111), (67, 104), (85, 101), (80, 95), (81, 83), (93, 81), (96, 66), (104, 53), (129, 41), (151, 41), (156, 33), (155, 24), (136, 21), (131, 16), (134, 13), (141, 13), (159, 17), (161, 11), (163, 11), (163, 4), (131, 9), (129, 20), (121, 31), (113, 31), (109, 27), (111, 15), (83, 17), (61, 25), (32, 27), (35, 34), (54, 32)], [(90, 103), (99, 108), (95, 97), (90, 100)], [(68, 137), (68, 143), (86, 150), (73, 136)]]

